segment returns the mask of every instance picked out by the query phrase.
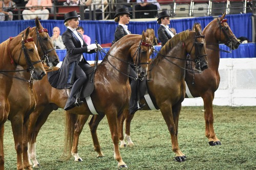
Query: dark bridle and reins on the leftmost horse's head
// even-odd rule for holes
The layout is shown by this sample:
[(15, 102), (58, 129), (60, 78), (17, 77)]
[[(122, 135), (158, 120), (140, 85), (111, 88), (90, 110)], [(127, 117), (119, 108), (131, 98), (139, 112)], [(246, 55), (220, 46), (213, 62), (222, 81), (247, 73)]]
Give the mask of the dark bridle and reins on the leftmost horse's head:
[(19, 53), (17, 63), (13, 60), (13, 58), (11, 56), (11, 52), (10, 52), (10, 42), (11, 42), (11, 40), (12, 40), (12, 38), (10, 38), (9, 45), (8, 45), (8, 52), (9, 52), (9, 55), (10, 55), (10, 58), (11, 58), (11, 63), (12, 64), (14, 63), (15, 65), (19, 65), (19, 60), (20, 60), (20, 57), (22, 56), (22, 51), (23, 51), (24, 52), (24, 57), (26, 59), (27, 65), (28, 65), (28, 68), (27, 69), (21, 69), (21, 70), (0, 70), (0, 73), (5, 75), (5, 76), (11, 77), (11, 78), (16, 78), (18, 80), (22, 80), (22, 81), (25, 81), (25, 82), (31, 82), (31, 79), (30, 80), (20, 79), (18, 77), (10, 76), (10, 75), (6, 74), (6, 72), (27, 71), (27, 72), (30, 72), (31, 76), (34, 74), (34, 69), (35, 69), (34, 64), (37, 64), (37, 63), (41, 62), (41, 60), (32, 62), (31, 59), (29, 58), (27, 48), (25, 46), (25, 43), (31, 42), (31, 41), (34, 41), (34, 40), (33, 40), (33, 38), (29, 38), (29, 39), (24, 40), (24, 33), (23, 33), (23, 35), (22, 35), (22, 48), (20, 48), (20, 53)]

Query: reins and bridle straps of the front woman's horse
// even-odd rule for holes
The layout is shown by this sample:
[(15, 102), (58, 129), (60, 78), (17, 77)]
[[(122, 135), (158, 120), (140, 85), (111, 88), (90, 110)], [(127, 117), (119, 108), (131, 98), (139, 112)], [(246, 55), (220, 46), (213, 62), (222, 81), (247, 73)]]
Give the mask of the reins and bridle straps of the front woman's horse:
[[(142, 46), (152, 46), (152, 45), (149, 44), (149, 43), (142, 42), (142, 39), (141, 39), (141, 41), (140, 41), (140, 43), (139, 43), (139, 46), (138, 46), (137, 50), (135, 51), (135, 53), (134, 53), (134, 55), (133, 55), (133, 57), (132, 57), (132, 58), (134, 58), (134, 57), (135, 57), (135, 54), (138, 52), (138, 53), (137, 53), (137, 56), (136, 56), (136, 63), (127, 62), (127, 61), (124, 61), (124, 60), (122, 60), (122, 59), (119, 59), (119, 58), (117, 58), (117, 57), (115, 57), (115, 56), (113, 56), (113, 55), (111, 55), (111, 54), (108, 54), (108, 52), (104, 51), (104, 50), (103, 50), (102, 48), (100, 48), (100, 47), (97, 48), (97, 49), (98, 49), (98, 50), (97, 50), (97, 55), (98, 55), (98, 53), (100, 53), (101, 56), (104, 56), (103, 53), (105, 53), (105, 54), (107, 54), (107, 55), (109, 55), (109, 56), (111, 56), (111, 57), (113, 57), (113, 58), (115, 58), (115, 59), (117, 59), (117, 60), (119, 60), (119, 61), (121, 61), (121, 62), (124, 62), (124, 63), (126, 63), (126, 64), (130, 64), (130, 65), (132, 64), (134, 67), (136, 67), (137, 77), (127, 75), (127, 74), (125, 74), (124, 72), (118, 70), (113, 64), (110, 63), (109, 59), (106, 58), (106, 56), (104, 57), (104, 59), (106, 59), (106, 61), (108, 61), (108, 63), (109, 63), (114, 69), (116, 69), (118, 72), (120, 72), (121, 74), (123, 74), (123, 75), (125, 75), (125, 76), (127, 76), (127, 77), (129, 77), (129, 78), (131, 78), (131, 79), (134, 79), (134, 80), (138, 80), (138, 79), (139, 79), (139, 80), (143, 80), (143, 78), (139, 78), (137, 71), (138, 71), (138, 69), (139, 69), (139, 65), (148, 64), (148, 62), (147, 62), (147, 63), (140, 63), (141, 45), (142, 45)], [(137, 61), (139, 61), (139, 62), (137, 63)]]

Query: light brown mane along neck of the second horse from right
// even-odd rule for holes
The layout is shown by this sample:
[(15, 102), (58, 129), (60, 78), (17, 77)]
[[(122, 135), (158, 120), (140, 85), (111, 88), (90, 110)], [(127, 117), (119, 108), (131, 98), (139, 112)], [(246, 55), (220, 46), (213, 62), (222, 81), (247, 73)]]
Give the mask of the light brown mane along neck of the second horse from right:
[(185, 41), (189, 36), (190, 30), (185, 30), (180, 32), (179, 34), (176, 34), (173, 38), (169, 39), (164, 46), (160, 50), (160, 54), (157, 55), (155, 61), (158, 62), (162, 59), (162, 55), (167, 54), (170, 50), (172, 50), (176, 45), (178, 45), (180, 42)]

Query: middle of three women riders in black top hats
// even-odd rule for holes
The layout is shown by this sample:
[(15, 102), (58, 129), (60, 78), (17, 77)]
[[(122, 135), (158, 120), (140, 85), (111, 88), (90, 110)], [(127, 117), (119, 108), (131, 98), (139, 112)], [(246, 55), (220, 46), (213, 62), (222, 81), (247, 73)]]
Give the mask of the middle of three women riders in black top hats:
[[(121, 39), (125, 35), (131, 34), (131, 32), (127, 29), (126, 24), (129, 24), (130, 22), (130, 16), (128, 8), (120, 8), (116, 10), (116, 14), (114, 16), (115, 22), (118, 22), (118, 26), (115, 31), (115, 42)], [(134, 66), (130, 65), (130, 76), (137, 77), (137, 74), (135, 72)], [(134, 114), (137, 110), (139, 110), (141, 107), (145, 106), (145, 104), (140, 105), (138, 102), (138, 80), (131, 79), (131, 98), (129, 102), (129, 110), (130, 114)]]

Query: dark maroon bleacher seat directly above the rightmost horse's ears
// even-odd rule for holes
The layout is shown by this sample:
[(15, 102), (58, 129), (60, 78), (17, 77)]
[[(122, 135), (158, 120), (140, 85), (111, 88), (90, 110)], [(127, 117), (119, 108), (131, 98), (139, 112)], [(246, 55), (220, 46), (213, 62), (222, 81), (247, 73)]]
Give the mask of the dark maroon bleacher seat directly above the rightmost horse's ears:
[(227, 11), (227, 0), (211, 0), (211, 16), (219, 16)]

